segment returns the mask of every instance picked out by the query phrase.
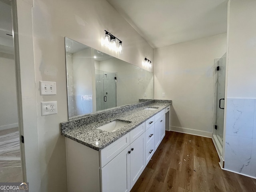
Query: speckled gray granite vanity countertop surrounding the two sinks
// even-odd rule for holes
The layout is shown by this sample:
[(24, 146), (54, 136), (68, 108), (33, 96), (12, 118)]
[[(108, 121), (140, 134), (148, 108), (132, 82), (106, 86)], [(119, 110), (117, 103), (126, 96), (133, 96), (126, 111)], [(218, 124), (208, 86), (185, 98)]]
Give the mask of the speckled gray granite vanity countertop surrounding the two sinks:
[[(136, 128), (170, 104), (171, 101), (153, 102), (147, 104), (146, 106), (134, 108), (132, 110), (128, 110), (119, 114), (113, 114), (111, 115), (111, 117), (108, 118), (101, 118), (102, 120), (99, 121), (91, 121), (87, 124), (69, 124), (68, 128), (62, 128), (61, 134), (94, 150), (102, 150), (103, 148), (105, 148), (118, 138), (124, 136), (126, 133), (130, 132), (132, 129)], [(144, 108), (147, 107), (158, 107), (158, 109), (144, 110)], [(129, 121), (131, 123), (114, 132), (106, 132), (97, 129), (98, 127), (114, 120)], [(62, 123), (61, 126), (63, 126), (64, 124), (65, 122)], [(70, 126), (72, 126), (72, 128), (70, 128)]]

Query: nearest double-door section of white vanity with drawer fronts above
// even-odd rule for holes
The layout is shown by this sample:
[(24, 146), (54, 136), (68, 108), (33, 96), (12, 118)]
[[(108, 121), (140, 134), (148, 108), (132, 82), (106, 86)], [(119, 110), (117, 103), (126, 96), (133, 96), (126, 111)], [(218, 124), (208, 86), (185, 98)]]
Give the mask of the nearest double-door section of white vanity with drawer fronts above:
[(128, 134), (101, 151), (101, 162), (106, 162), (104, 159), (114, 156), (127, 145), (128, 137), (130, 138), (130, 145), (127, 148), (118, 152), (106, 165), (101, 163), (102, 192), (130, 191), (145, 168), (145, 123)]

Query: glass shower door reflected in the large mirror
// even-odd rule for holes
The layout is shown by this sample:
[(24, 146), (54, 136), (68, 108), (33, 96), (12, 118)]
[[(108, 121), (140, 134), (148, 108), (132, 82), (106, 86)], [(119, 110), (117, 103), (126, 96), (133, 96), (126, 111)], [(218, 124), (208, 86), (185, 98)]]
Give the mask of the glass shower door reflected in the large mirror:
[(95, 70), (96, 110), (116, 107), (116, 74)]

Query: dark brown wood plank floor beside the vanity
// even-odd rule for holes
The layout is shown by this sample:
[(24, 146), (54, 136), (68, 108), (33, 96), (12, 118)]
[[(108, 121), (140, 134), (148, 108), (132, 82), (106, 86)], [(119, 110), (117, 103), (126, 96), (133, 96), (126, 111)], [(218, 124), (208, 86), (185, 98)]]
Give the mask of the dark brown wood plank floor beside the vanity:
[(211, 138), (166, 131), (131, 192), (256, 192), (256, 179), (218, 162)]

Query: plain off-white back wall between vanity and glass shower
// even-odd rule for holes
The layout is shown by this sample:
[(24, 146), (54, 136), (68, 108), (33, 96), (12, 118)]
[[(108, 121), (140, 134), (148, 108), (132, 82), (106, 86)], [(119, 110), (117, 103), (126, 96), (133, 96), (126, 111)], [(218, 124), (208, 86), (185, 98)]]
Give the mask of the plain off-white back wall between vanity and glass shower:
[(214, 59), (225, 52), (226, 34), (154, 50), (154, 98), (172, 100), (171, 130), (212, 135)]

